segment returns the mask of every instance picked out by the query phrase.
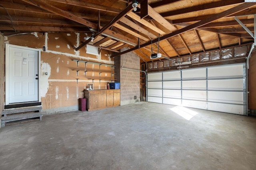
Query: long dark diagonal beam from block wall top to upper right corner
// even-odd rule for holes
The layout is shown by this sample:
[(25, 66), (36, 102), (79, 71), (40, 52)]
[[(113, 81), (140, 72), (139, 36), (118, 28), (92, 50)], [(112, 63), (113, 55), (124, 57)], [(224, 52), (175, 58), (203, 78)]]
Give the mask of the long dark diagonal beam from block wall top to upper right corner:
[[(197, 27), (200, 27), (200, 26), (205, 25), (205, 24), (207, 24), (207, 23), (210, 23), (210, 22), (212, 22), (212, 21), (218, 20), (218, 19), (220, 19), (220, 18), (224, 18), (224, 17), (226, 17), (226, 16), (230, 16), (230, 15), (232, 15), (232, 14), (238, 13), (238, 12), (240, 12), (240, 11), (242, 11), (242, 10), (245, 10), (245, 9), (250, 8), (250, 7), (252, 7), (252, 6), (255, 6), (255, 5), (256, 5), (256, 3), (250, 3), (250, 2), (246, 2), (246, 3), (240, 4), (240, 5), (238, 5), (238, 6), (235, 6), (234, 8), (231, 8), (231, 9), (229, 9), (229, 10), (226, 10), (226, 11), (224, 11), (224, 12), (221, 12), (221, 13), (219, 13), (219, 14), (216, 14), (216, 15), (214, 15), (214, 16), (211, 16), (211, 17), (209, 17), (209, 18), (206, 18), (206, 19), (204, 19), (204, 20), (202, 20), (202, 21), (198, 21), (198, 22), (196, 22), (196, 23), (194, 23), (194, 24), (192, 24), (192, 25), (189, 25), (189, 26), (187, 26), (187, 27), (184, 27), (184, 28), (182, 28), (182, 29), (179, 29), (179, 30), (177, 30), (177, 31), (174, 31), (174, 32), (172, 32), (172, 33), (169, 33), (169, 34), (167, 34), (167, 35), (164, 35), (164, 36), (160, 37), (160, 41), (161, 41), (161, 40), (164, 40), (164, 39), (168, 39), (168, 38), (173, 37), (173, 36), (175, 36), (175, 35), (179, 35), (179, 34), (184, 33), (184, 32), (186, 32), (186, 31), (190, 31), (190, 30), (192, 30), (192, 29), (195, 29), (195, 28), (197, 28)], [(126, 51), (123, 51), (123, 52), (121, 52), (121, 53), (119, 53), (119, 54), (114, 54), (114, 55), (112, 55), (111, 57), (116, 57), (116, 56), (118, 56), (118, 55), (122, 55), (122, 54), (128, 53), (128, 52), (133, 51), (133, 50), (135, 50), (135, 49), (139, 49), (139, 48), (145, 47), (145, 46), (147, 46), (147, 45), (150, 45), (151, 43), (156, 43), (157, 41), (158, 41), (158, 39), (154, 39), (154, 40), (152, 40), (152, 41), (149, 41), (149, 42), (147, 42), (147, 43), (144, 43), (144, 44), (140, 45), (140, 47), (138, 47), (138, 46), (133, 47), (133, 48), (131, 48), (131, 49), (129, 49), (129, 50), (126, 50)]]

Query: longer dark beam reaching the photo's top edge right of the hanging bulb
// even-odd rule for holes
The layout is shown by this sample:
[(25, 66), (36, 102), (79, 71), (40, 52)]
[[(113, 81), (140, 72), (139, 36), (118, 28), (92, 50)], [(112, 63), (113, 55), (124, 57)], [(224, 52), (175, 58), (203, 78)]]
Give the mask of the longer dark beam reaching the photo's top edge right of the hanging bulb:
[(243, 3), (243, 2), (244, 2), (244, 0), (222, 0), (222, 1), (218, 1), (218, 2), (211, 2), (208, 4), (192, 6), (189, 8), (182, 8), (179, 10), (163, 12), (163, 13), (160, 13), (160, 15), (163, 17), (174, 16), (174, 15), (179, 15), (179, 14), (185, 14), (188, 12), (196, 12), (196, 11), (200, 11), (200, 10), (207, 10), (207, 9), (218, 8), (218, 7), (222, 7), (222, 6), (234, 5), (234, 4)]

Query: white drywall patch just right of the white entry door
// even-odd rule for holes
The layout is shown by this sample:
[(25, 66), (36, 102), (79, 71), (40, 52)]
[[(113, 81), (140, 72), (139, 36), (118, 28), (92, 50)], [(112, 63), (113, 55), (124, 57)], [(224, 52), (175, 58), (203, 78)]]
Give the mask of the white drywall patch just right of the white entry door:
[[(46, 75), (47, 72), (47, 75)], [(49, 89), (49, 80), (48, 78), (51, 75), (51, 66), (48, 63), (41, 61), (41, 97), (46, 97), (46, 93)]]

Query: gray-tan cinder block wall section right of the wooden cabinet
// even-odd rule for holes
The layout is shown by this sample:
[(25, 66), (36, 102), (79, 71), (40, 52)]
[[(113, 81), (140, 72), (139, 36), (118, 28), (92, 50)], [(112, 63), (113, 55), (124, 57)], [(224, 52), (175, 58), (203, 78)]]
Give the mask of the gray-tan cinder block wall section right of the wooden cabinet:
[(115, 57), (115, 65), (116, 82), (120, 82), (120, 105), (140, 102), (140, 58), (133, 52), (126, 53)]

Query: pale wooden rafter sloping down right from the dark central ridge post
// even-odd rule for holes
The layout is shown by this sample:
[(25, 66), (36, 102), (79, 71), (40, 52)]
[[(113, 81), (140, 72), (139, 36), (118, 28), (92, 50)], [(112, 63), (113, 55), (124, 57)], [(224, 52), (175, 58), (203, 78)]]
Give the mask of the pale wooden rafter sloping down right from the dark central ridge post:
[(162, 17), (158, 12), (156, 12), (151, 6), (148, 5), (148, 15), (151, 16), (155, 21), (163, 25), (166, 29), (173, 32), (176, 31), (177, 28), (174, 27), (169, 21), (167, 21), (164, 17)]

